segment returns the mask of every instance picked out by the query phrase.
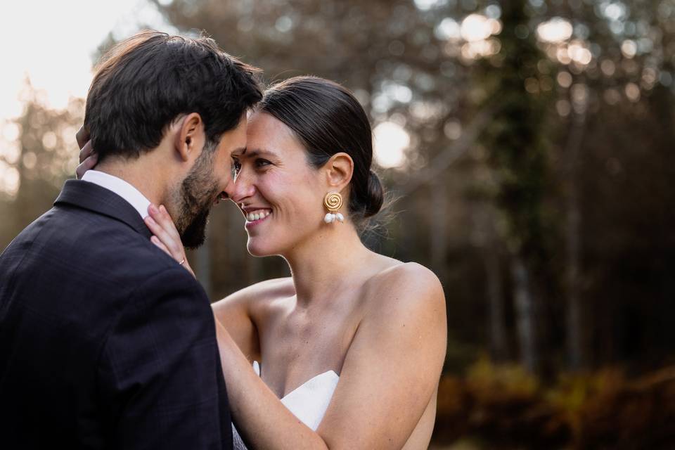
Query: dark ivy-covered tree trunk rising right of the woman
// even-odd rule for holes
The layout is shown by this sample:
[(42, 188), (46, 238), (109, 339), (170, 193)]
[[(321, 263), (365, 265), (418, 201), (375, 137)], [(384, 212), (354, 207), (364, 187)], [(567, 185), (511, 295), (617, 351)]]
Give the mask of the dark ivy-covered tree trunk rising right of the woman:
[(522, 362), (530, 371), (541, 364), (539, 309), (555, 290), (547, 285), (551, 274), (549, 240), (554, 230), (546, 223), (544, 198), (548, 179), (548, 155), (544, 132), (547, 96), (535, 95), (539, 86), (537, 63), (541, 53), (531, 34), (520, 32), (526, 23), (527, 1), (503, 5), (499, 71), (486, 68), (489, 98), (499, 98), (499, 110), (484, 132), (497, 177), (496, 204), (506, 215), (507, 240), (513, 276), (513, 298), (518, 323)]

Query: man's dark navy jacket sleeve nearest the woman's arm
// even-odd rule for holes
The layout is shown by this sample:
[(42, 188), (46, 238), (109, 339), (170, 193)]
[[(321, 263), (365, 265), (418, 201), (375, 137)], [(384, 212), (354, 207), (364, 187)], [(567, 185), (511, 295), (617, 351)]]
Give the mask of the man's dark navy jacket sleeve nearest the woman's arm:
[(98, 367), (111, 448), (231, 448), (219, 376), (213, 316), (200, 285), (180, 267), (148, 279), (127, 300)]

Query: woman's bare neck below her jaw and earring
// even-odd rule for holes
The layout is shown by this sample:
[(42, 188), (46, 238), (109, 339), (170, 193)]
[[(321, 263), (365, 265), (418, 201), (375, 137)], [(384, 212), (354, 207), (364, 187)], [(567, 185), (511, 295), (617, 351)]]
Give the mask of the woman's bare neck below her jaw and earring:
[(334, 297), (371, 255), (352, 224), (333, 223), (283, 257), (290, 266), (298, 304), (309, 306)]

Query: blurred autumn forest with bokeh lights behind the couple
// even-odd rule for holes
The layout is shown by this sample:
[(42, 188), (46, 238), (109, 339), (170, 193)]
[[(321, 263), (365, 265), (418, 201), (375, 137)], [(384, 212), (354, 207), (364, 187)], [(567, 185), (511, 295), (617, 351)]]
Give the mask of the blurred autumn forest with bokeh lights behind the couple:
[[(675, 0), (146, 3), (266, 82), (327, 77), (366, 108), (395, 201), (364, 240), (446, 293), (434, 448), (674, 444)], [(27, 79), (0, 121), (0, 249), (77, 165), (84, 99), (43, 94)], [(288, 275), (242, 223), (217, 207), (191, 255), (213, 300)]]

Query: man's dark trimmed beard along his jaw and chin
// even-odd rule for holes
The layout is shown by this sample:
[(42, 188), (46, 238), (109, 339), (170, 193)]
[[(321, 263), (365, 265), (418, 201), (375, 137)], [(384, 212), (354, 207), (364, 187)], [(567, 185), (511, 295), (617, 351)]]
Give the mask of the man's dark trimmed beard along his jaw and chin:
[(186, 248), (200, 247), (206, 238), (206, 225), (211, 207), (219, 192), (218, 181), (213, 177), (214, 146), (206, 144), (201, 155), (195, 161), (188, 176), (181, 183), (178, 198), (179, 213), (176, 229)]

